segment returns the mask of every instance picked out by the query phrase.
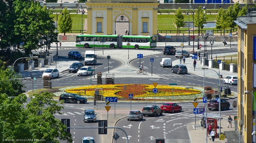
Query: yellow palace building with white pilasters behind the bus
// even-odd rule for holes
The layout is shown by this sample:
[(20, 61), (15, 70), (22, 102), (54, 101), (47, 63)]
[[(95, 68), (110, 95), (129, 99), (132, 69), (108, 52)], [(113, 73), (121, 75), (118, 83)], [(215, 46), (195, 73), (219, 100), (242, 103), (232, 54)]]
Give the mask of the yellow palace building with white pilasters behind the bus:
[(157, 0), (90, 0), (86, 5), (87, 34), (157, 36)]

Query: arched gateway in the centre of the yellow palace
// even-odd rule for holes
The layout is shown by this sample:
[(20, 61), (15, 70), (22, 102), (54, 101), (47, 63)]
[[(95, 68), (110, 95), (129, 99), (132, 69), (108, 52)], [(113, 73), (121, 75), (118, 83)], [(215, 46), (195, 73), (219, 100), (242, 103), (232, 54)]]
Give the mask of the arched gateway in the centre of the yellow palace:
[(125, 29), (128, 30), (129, 35), (129, 18), (126, 15), (119, 15), (116, 17), (116, 35), (125, 35)]

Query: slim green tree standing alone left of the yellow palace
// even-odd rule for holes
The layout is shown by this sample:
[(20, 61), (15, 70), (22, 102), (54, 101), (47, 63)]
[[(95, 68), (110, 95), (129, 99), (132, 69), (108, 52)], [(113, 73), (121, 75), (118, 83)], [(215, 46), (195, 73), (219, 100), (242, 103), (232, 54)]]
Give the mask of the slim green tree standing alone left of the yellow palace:
[(60, 30), (60, 33), (64, 33), (65, 35), (66, 32), (70, 31), (72, 28), (72, 19), (67, 8), (64, 8), (64, 10), (62, 10), (62, 14), (59, 14), (58, 16), (58, 28)]

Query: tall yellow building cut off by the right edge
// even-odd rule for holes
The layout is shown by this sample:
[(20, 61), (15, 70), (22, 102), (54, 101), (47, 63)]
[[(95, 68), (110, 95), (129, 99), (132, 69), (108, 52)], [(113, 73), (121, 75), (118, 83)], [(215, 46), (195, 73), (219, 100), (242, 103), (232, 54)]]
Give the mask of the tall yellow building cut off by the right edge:
[[(256, 17), (240, 16), (235, 21), (238, 24), (238, 125), (240, 133), (244, 136), (245, 143), (255, 143), (254, 99), (256, 91), (256, 76), (254, 77), (253, 65), (256, 64)], [(247, 91), (247, 93), (245, 93)], [(250, 91), (250, 93), (248, 93)], [(256, 93), (254, 94), (256, 95)], [(255, 97), (255, 96), (254, 96)], [(253, 110), (254, 109), (254, 110)], [(240, 122), (239, 122), (240, 121)]]

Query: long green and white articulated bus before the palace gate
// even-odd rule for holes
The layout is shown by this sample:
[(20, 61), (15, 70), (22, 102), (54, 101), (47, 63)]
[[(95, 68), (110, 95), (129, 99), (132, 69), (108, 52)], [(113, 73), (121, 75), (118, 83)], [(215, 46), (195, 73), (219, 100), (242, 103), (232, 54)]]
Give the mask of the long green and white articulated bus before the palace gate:
[(156, 37), (142, 35), (76, 35), (76, 47), (147, 49), (156, 47)]

